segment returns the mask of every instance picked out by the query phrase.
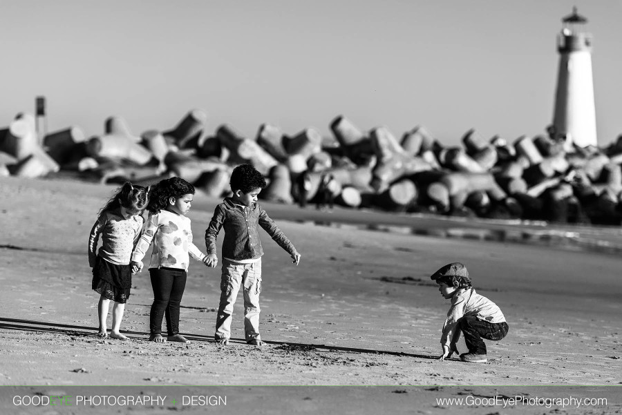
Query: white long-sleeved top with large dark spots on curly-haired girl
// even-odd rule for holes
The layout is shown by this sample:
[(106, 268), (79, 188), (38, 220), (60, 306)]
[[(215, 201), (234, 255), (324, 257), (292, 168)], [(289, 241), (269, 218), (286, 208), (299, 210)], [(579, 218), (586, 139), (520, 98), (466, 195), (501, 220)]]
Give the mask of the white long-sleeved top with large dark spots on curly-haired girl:
[(198, 261), (205, 258), (205, 254), (192, 243), (190, 219), (184, 215), (169, 211), (149, 213), (132, 260), (140, 262), (152, 241), (155, 243), (149, 268), (167, 267), (188, 271), (190, 256)]

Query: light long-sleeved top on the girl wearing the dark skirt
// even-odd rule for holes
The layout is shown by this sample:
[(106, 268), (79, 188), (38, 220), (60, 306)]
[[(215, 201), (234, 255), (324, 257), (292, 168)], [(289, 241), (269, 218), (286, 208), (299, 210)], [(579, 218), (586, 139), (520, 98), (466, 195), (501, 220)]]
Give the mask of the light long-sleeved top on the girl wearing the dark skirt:
[[(88, 235), (88, 264), (91, 268), (95, 267), (97, 255), (111, 264), (129, 264), (132, 249), (140, 236), (143, 222), (144, 219), (140, 215), (128, 219), (123, 218), (120, 209), (102, 212)], [(97, 253), (100, 235), (102, 247)]]

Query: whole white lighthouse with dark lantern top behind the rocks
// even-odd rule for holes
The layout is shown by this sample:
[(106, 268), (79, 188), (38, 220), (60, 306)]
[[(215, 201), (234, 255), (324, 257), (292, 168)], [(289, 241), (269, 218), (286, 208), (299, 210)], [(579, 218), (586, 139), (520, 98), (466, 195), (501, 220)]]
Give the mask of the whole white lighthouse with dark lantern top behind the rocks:
[(560, 56), (553, 126), (558, 136), (565, 135), (567, 150), (572, 144), (596, 146), (592, 35), (583, 30), (587, 19), (576, 8), (562, 23), (557, 37)]

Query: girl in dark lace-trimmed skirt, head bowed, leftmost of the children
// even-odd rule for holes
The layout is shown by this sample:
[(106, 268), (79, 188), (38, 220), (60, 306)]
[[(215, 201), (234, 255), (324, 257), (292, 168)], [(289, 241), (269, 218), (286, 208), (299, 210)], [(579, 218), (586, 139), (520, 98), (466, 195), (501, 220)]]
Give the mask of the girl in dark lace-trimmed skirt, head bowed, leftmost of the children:
[[(100, 211), (88, 237), (88, 264), (93, 268), (91, 286), (100, 293), (100, 302), (97, 304), (100, 327), (97, 337), (108, 336), (106, 318), (110, 302), (114, 301), (110, 336), (127, 340), (119, 329), (132, 287), (130, 257), (144, 222), (141, 214), (148, 202), (148, 192), (149, 188), (125, 183)], [(102, 247), (96, 255), (100, 234)]]

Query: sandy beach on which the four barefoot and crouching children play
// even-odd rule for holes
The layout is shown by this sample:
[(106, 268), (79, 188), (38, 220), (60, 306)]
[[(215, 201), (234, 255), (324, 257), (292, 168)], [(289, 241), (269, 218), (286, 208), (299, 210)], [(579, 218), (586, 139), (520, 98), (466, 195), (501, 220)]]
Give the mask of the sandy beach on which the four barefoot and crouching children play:
[[(146, 270), (133, 277), (126, 305), (122, 331), (130, 340), (97, 338), (98, 296), (91, 290), (86, 242), (97, 211), (113, 189), (66, 180), (0, 179), (0, 384), (5, 385), (0, 390), (7, 408), (14, 407), (6, 399), (12, 396), (9, 385), (18, 391), (28, 385), (39, 394), (75, 394), (84, 385), (132, 385), (120, 389), (143, 394), (211, 385), (232, 395), (247, 390), (246, 398), (236, 403), (247, 409), (255, 405), (251, 396), (278, 396), (280, 407), (294, 413), (321, 413), (321, 405), (341, 405), (341, 411), (324, 413), (372, 413), (386, 405), (399, 412), (412, 410), (408, 408), (414, 403), (422, 413), (440, 413), (446, 408), (435, 405), (438, 394), (492, 396), (494, 385), (507, 396), (521, 391), (530, 396), (567, 396), (573, 391), (610, 396), (607, 406), (564, 409), (567, 413), (621, 410), (619, 255), (576, 244), (556, 247), (363, 229), (395, 225), (395, 217), (385, 213), (319, 213), (313, 206), (262, 202), (303, 258), (295, 267), (263, 234), (261, 331), (266, 345), (261, 349), (243, 341), (241, 298), (234, 311), (232, 342), (216, 345), (220, 269), (199, 262), (191, 262), (182, 299), (180, 329), (191, 339), (188, 345), (147, 341), (153, 292)], [(188, 215), (202, 250), (218, 202), (198, 193)], [(314, 224), (319, 214), (332, 226)], [(399, 220), (408, 226), (407, 217)], [(426, 226), (426, 218), (412, 220)], [(335, 225), (342, 222), (347, 223)], [(456, 222), (455, 227), (500, 226), (482, 223)], [(599, 235), (589, 232), (594, 238)], [(601, 234), (611, 244), (622, 242), (619, 229), (603, 229)], [(449, 301), (429, 276), (454, 261), (466, 264), (475, 289), (500, 305), (509, 323), (506, 338), (487, 342), (487, 363), (436, 360)], [(466, 351), (464, 340), (458, 348)], [(359, 399), (369, 405), (356, 410), (348, 404)], [(258, 402), (264, 413), (279, 413), (274, 400)], [(158, 408), (173, 410), (151, 410)], [(64, 409), (55, 408), (57, 413), (86, 413)], [(91, 409), (104, 412), (103, 407)], [(541, 407), (521, 413), (532, 409), (543, 413)]]

